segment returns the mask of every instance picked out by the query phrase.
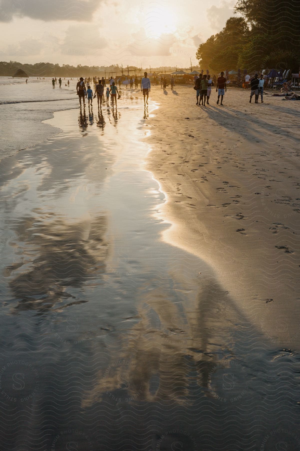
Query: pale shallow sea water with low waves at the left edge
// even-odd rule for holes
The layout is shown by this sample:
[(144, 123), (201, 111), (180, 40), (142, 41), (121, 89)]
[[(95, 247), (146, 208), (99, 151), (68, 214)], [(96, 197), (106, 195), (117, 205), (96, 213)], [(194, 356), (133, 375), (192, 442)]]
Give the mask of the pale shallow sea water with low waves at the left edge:
[[(41, 121), (53, 116), (54, 111), (67, 110), (78, 105), (77, 79), (67, 79), (62, 87), (52, 87), (52, 78), (0, 77), (0, 159), (14, 155), (21, 149), (34, 146), (60, 132)], [(57, 79), (58, 80), (58, 79)]]

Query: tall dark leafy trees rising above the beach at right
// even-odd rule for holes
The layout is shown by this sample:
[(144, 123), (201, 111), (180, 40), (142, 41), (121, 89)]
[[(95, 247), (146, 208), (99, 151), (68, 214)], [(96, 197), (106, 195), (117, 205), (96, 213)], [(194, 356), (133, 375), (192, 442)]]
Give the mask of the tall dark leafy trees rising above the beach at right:
[(238, 0), (223, 30), (200, 44), (197, 59), (212, 71), (300, 66), (299, 0)]

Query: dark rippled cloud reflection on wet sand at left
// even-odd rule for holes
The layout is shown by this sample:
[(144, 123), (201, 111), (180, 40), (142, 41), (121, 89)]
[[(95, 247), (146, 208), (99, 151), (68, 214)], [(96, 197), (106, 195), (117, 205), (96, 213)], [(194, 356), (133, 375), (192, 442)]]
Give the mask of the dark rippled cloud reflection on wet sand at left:
[(15, 228), (22, 242), (20, 261), (4, 270), (17, 273), (9, 286), (18, 303), (16, 310), (43, 310), (65, 298), (76, 299), (70, 290), (82, 289), (90, 279), (101, 283), (105, 272), (106, 218), (68, 224), (43, 213), (43, 219), (24, 217)]

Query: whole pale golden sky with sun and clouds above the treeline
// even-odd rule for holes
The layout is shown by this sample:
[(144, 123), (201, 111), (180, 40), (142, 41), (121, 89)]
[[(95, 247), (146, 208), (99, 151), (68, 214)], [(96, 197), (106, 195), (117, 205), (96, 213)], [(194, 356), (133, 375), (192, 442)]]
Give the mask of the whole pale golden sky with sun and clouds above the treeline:
[(0, 0), (0, 60), (188, 67), (231, 0)]

